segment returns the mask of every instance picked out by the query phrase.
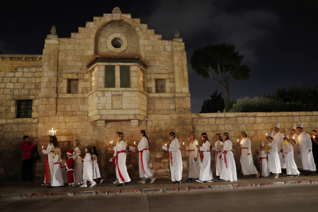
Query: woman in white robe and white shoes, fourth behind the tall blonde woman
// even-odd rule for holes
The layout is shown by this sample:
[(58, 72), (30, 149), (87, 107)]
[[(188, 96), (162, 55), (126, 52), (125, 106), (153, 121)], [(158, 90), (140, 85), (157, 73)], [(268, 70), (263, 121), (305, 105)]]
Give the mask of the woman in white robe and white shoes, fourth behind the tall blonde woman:
[(196, 147), (202, 152), (202, 165), (200, 169), (200, 177), (197, 182), (203, 183), (204, 181), (213, 182), (213, 175), (211, 171), (211, 154), (210, 154), (210, 140), (206, 133), (201, 134), (203, 141), (202, 147), (197, 145)]

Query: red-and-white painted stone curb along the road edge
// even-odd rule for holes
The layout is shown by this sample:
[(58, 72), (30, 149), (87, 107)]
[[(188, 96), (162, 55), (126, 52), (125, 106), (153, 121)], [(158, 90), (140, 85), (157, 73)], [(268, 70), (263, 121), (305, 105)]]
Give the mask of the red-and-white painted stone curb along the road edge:
[(186, 191), (212, 191), (221, 189), (234, 188), (254, 188), (267, 186), (286, 186), (286, 185), (302, 185), (315, 184), (318, 180), (305, 181), (287, 181), (287, 182), (265, 182), (265, 183), (251, 183), (251, 184), (232, 184), (232, 185), (218, 185), (218, 186), (191, 186), (178, 188), (159, 188), (159, 189), (133, 189), (133, 190), (109, 190), (109, 191), (79, 191), (79, 192), (62, 192), (62, 193), (38, 193), (38, 194), (17, 194), (17, 195), (0, 195), (0, 199), (9, 198), (33, 198), (43, 196), (82, 196), (82, 195), (115, 195), (115, 194), (153, 194), (153, 193), (171, 193), (171, 192), (186, 192)]

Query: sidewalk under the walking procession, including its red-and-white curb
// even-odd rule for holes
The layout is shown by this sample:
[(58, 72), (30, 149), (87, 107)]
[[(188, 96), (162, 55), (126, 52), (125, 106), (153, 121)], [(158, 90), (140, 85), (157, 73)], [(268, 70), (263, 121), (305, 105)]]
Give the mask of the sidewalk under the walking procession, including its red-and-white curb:
[(198, 183), (195, 180), (191, 182), (185, 181), (182, 184), (174, 185), (170, 179), (157, 179), (155, 183), (150, 184), (148, 181), (145, 184), (137, 183), (137, 180), (131, 181), (123, 187), (116, 187), (112, 181), (103, 181), (93, 188), (80, 188), (75, 186), (47, 188), (41, 186), (41, 182), (18, 182), (18, 181), (2, 181), (0, 182), (0, 198), (24, 198), (37, 196), (56, 196), (56, 195), (106, 195), (106, 194), (133, 194), (133, 193), (163, 193), (163, 192), (182, 192), (182, 191), (198, 191), (198, 190), (216, 190), (216, 189), (233, 189), (233, 188), (249, 188), (259, 186), (275, 186), (275, 185), (291, 185), (291, 184), (306, 184), (318, 183), (318, 173), (313, 176), (304, 176), (303, 173), (299, 177), (286, 177), (286, 174), (281, 175), (277, 179), (272, 176), (238, 179), (238, 181), (229, 182), (214, 179), (211, 183)]

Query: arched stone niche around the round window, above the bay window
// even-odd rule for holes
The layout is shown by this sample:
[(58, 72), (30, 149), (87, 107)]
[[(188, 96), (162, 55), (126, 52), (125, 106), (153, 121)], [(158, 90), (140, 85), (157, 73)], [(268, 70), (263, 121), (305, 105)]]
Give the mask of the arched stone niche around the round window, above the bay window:
[[(117, 38), (122, 41), (122, 46), (110, 45), (112, 42), (109, 41)], [(97, 31), (94, 53), (101, 56), (140, 55), (138, 35), (135, 29), (126, 22), (119, 20), (111, 21)]]

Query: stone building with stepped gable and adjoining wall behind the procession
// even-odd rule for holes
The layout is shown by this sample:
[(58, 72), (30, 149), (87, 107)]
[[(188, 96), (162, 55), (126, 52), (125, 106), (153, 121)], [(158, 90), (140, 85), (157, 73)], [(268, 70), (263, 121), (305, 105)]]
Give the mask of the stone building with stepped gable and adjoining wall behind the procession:
[[(3, 58), (0, 66), (6, 61)], [(113, 154), (109, 143), (115, 142), (117, 131), (125, 134), (128, 145), (133, 145), (140, 140), (139, 131), (145, 129), (149, 137), (149, 166), (154, 174), (164, 178), (170, 174), (169, 154), (161, 147), (169, 144), (171, 131), (187, 145), (192, 131), (198, 140), (200, 133), (208, 133), (214, 144), (215, 133), (226, 131), (237, 138), (245, 130), (257, 150), (263, 135), (277, 121), (287, 130), (294, 121), (302, 119), (305, 127), (317, 126), (316, 112), (191, 114), (182, 38), (176, 32), (173, 40), (162, 40), (139, 18), (121, 13), (119, 8), (94, 17), (78, 32), (71, 33), (71, 38), (58, 38), (52, 27), (43, 55), (37, 58), (41, 58), (37, 60), (40, 64), (21, 63), (16, 68), (11, 65), (9, 71), (0, 72), (2, 180), (20, 177), (20, 142), (24, 135), (38, 138), (41, 159), (37, 160), (34, 173), (37, 179), (44, 178), (45, 155), (41, 148), (48, 145), (52, 128), (57, 130), (64, 154), (75, 139), (81, 141), (82, 155), (86, 145), (97, 147), (101, 175), (106, 179), (115, 178), (114, 166), (109, 162)], [(233, 148), (238, 159), (237, 149)], [(188, 152), (181, 150), (186, 177)], [(214, 154), (211, 155), (214, 161)], [(126, 164), (129, 175), (139, 178), (138, 153), (130, 152)]]

